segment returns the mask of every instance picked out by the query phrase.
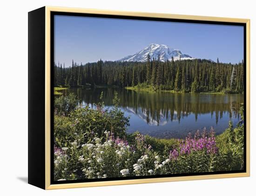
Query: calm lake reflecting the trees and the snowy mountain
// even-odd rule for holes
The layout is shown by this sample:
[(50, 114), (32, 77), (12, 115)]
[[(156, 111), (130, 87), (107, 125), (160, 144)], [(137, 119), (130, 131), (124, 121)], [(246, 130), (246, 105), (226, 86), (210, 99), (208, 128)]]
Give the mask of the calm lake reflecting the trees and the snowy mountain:
[(157, 138), (185, 138), (206, 127), (222, 133), (231, 120), (239, 121), (239, 107), (243, 94), (145, 92), (127, 89), (66, 89), (74, 93), (82, 104), (94, 107), (103, 92), (105, 107), (113, 107), (114, 92), (120, 99), (120, 108), (130, 117), (128, 133), (139, 131)]

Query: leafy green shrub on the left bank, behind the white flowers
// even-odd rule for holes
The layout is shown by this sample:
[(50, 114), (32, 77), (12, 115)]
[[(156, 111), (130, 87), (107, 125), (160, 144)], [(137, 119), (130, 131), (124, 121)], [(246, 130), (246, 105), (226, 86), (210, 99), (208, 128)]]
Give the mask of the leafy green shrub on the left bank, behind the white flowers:
[[(71, 101), (69, 100), (70, 98), (72, 99)], [(74, 96), (71, 95), (59, 99), (58, 103), (70, 103), (73, 101)], [(55, 115), (54, 139), (56, 145), (61, 147), (67, 146), (68, 143), (74, 140), (84, 144), (90, 142), (94, 137), (101, 138), (104, 132), (110, 132), (113, 137), (124, 138), (126, 135), (126, 127), (129, 126), (129, 120), (118, 108), (119, 100), (116, 94), (113, 103), (115, 107), (111, 109), (103, 109), (104, 103), (100, 102), (96, 105), (96, 109), (88, 106), (80, 106), (71, 110), (71, 107), (68, 107), (71, 110), (69, 113), (66, 113), (69, 114), (68, 116)], [(74, 106), (72, 108), (74, 108)], [(69, 111), (69, 109), (67, 111)], [(60, 109), (57, 109), (57, 111), (60, 111)], [(62, 113), (58, 112), (56, 114)]]

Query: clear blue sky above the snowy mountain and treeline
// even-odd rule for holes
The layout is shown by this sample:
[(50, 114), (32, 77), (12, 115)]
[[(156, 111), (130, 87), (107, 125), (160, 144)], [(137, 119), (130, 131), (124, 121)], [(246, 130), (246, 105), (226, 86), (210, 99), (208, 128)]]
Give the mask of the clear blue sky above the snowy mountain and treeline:
[(55, 16), (54, 61), (119, 60), (148, 44), (166, 44), (195, 58), (243, 60), (243, 27), (145, 20)]

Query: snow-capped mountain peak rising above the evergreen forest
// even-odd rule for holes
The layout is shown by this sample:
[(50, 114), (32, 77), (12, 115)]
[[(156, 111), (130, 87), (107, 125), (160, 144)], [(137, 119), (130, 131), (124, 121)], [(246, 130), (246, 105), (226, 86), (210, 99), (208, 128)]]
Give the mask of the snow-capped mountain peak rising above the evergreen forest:
[(120, 59), (120, 61), (138, 61), (138, 62), (144, 62), (147, 61), (147, 56), (150, 56), (151, 59), (155, 58), (158, 59), (158, 55), (160, 55), (160, 60), (162, 62), (165, 62), (167, 60), (171, 61), (172, 57), (174, 60), (181, 60), (184, 59), (194, 59), (193, 57), (183, 54), (181, 51), (172, 49), (168, 47), (168, 45), (163, 44), (149, 44), (146, 48), (143, 50), (137, 52), (134, 55), (129, 55), (127, 57), (124, 57)]

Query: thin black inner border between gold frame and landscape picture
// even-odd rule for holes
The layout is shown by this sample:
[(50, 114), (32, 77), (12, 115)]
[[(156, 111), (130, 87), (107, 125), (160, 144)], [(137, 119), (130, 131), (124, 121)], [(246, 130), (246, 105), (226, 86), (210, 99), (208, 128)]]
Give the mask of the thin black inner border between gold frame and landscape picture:
[[(178, 23), (195, 23), (195, 24), (209, 24), (209, 25), (235, 25), (243, 26), (243, 62), (244, 62), (244, 169), (236, 171), (215, 171), (215, 172), (197, 172), (197, 173), (183, 173), (183, 174), (166, 174), (166, 175), (155, 175), (155, 176), (139, 176), (139, 177), (111, 177), (101, 179), (81, 179), (81, 180), (65, 180), (65, 181), (54, 181), (54, 16), (78, 16), (78, 17), (94, 17), (94, 18), (110, 18), (110, 19), (131, 19), (131, 20), (147, 20), (147, 21), (162, 21), (162, 22), (178, 22)], [(50, 184), (65, 184), (65, 183), (88, 183), (88, 182), (104, 182), (104, 181), (116, 181), (116, 180), (131, 180), (131, 179), (147, 179), (147, 178), (164, 178), (164, 177), (186, 177), (186, 176), (202, 176), (202, 175), (214, 175), (214, 174), (231, 174), (231, 173), (245, 173), (247, 171), (246, 163), (246, 108), (247, 108), (247, 80), (246, 80), (246, 54), (247, 54), (247, 42), (246, 42), (246, 23), (237, 22), (217, 22), (217, 21), (204, 21), (204, 20), (193, 20), (193, 19), (167, 19), (167, 18), (154, 18), (154, 17), (139, 17), (139, 16), (122, 16), (122, 15), (111, 15), (111, 14), (94, 14), (94, 13), (69, 13), (69, 12), (50, 12), (50, 106), (51, 106), (51, 155), (50, 155)]]

